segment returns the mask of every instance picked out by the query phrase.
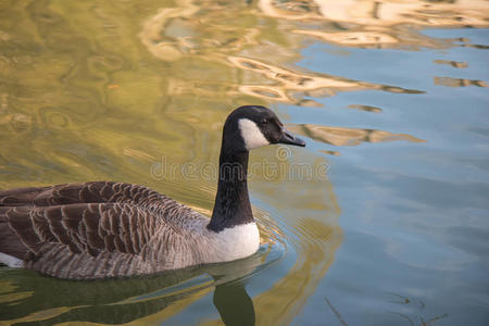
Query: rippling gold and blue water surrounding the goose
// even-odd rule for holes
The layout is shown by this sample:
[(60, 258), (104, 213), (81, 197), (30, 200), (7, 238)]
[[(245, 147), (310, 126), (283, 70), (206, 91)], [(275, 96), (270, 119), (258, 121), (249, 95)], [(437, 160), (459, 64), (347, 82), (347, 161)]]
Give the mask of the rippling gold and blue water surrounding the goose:
[(268, 105), (308, 147), (251, 155), (259, 253), (0, 267), (1, 323), (487, 325), (487, 2), (179, 3), (0, 2), (0, 188), (123, 180), (209, 215), (224, 118)]

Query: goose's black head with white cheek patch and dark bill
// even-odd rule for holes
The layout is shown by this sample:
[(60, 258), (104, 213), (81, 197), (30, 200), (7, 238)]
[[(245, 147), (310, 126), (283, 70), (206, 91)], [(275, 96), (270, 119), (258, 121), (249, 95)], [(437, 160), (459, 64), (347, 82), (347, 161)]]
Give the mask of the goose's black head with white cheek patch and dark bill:
[(228, 115), (223, 129), (224, 152), (248, 152), (272, 143), (305, 147), (305, 142), (290, 134), (268, 108), (244, 105)]

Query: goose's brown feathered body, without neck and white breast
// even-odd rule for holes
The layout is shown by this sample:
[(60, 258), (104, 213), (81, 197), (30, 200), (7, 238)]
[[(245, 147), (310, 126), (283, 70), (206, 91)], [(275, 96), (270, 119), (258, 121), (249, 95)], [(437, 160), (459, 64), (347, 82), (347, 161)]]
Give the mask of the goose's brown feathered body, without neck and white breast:
[(123, 277), (221, 260), (209, 218), (143, 186), (7, 190), (0, 206), (24, 247), (24, 267), (51, 276)]

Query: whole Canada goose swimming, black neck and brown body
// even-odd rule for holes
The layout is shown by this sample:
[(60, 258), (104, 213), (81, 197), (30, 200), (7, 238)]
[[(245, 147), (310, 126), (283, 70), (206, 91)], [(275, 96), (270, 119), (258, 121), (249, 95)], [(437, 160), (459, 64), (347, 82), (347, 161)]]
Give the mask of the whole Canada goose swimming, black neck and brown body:
[(255, 253), (249, 151), (304, 147), (275, 113), (244, 105), (226, 118), (211, 220), (145, 186), (89, 181), (0, 191), (0, 262), (66, 279), (150, 275)]

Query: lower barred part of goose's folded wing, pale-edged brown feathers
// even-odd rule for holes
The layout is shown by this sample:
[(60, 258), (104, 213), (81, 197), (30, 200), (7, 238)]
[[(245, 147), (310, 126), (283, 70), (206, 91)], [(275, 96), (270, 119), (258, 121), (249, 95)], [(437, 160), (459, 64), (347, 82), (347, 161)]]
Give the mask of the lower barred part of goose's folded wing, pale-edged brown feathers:
[[(153, 235), (156, 223), (146, 210), (130, 203), (77, 203), (12, 208), (10, 227), (37, 254), (48, 243), (62, 243), (72, 253), (101, 251), (138, 254)], [(152, 227), (148, 227), (152, 226)]]

